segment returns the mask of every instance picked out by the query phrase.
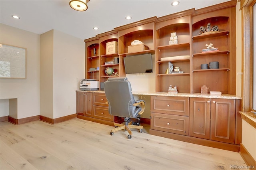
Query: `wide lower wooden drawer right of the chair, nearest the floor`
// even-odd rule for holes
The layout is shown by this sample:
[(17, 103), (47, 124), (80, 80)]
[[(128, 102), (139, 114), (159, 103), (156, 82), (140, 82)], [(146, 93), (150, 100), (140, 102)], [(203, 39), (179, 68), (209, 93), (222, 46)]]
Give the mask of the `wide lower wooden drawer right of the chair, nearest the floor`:
[(188, 117), (151, 113), (150, 128), (188, 136)]

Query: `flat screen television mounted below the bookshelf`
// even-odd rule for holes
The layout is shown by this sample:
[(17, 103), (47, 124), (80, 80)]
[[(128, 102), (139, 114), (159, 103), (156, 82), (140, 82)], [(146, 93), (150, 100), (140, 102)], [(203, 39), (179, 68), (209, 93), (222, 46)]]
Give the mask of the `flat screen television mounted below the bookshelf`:
[(126, 74), (152, 73), (152, 55), (142, 54), (124, 57), (124, 68)]

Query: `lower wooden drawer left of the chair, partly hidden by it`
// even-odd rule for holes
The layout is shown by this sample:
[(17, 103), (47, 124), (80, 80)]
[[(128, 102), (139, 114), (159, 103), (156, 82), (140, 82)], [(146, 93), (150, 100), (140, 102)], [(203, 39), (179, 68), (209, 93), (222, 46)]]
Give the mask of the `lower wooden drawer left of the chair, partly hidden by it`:
[(93, 106), (93, 117), (105, 121), (114, 121), (114, 116), (108, 113), (108, 107)]

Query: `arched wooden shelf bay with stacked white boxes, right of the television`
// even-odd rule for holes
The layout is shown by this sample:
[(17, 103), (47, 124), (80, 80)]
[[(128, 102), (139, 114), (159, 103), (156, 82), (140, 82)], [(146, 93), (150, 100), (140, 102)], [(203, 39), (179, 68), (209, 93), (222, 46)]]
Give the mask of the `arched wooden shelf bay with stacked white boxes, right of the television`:
[[(190, 93), (190, 59), (162, 61), (161, 58), (191, 56), (191, 14), (192, 11), (188, 10), (182, 16), (172, 14), (159, 18), (159, 22), (156, 22), (156, 91), (168, 92), (170, 85), (176, 85), (179, 93)], [(178, 44), (169, 45), (172, 32), (176, 32)], [(184, 73), (166, 74), (169, 61)]]

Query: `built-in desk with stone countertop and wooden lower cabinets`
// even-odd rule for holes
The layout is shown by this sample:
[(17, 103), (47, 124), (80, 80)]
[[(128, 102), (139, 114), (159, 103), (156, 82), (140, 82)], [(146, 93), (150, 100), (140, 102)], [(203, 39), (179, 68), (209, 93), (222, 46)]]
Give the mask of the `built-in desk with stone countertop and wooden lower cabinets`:
[[(76, 93), (104, 95), (104, 91), (76, 91)], [(133, 95), (148, 96), (150, 134), (221, 148), (240, 151), (242, 135), (242, 119), (238, 113), (241, 109), (242, 97), (236, 95), (211, 95), (200, 93), (165, 93), (132, 91)], [(79, 96), (79, 95), (77, 95)], [(89, 98), (90, 99), (90, 98)], [(77, 100), (79, 100), (77, 98)], [(102, 98), (104, 101), (104, 99)], [(89, 103), (89, 108), (96, 104)], [(107, 110), (107, 106), (105, 109)], [(77, 108), (82, 108), (79, 105)], [(104, 108), (102, 108), (104, 109)], [(100, 120), (94, 111), (86, 120), (112, 125), (117, 119)], [(103, 113), (103, 112), (102, 112)], [(95, 116), (93, 116), (95, 115)]]

